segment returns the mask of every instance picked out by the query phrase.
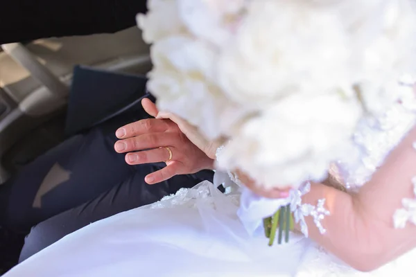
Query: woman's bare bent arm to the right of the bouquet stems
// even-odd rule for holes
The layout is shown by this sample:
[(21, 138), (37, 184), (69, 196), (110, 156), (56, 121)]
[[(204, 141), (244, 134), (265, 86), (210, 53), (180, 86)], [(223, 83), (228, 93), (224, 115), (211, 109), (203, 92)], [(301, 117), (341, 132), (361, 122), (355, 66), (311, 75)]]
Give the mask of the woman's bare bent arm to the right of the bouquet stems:
[(313, 219), (306, 217), (310, 237), (363, 271), (381, 267), (414, 249), (415, 141), (413, 128), (356, 195), (313, 184), (302, 201), (315, 205), (324, 198), (331, 215), (322, 221), (327, 229), (323, 235)]

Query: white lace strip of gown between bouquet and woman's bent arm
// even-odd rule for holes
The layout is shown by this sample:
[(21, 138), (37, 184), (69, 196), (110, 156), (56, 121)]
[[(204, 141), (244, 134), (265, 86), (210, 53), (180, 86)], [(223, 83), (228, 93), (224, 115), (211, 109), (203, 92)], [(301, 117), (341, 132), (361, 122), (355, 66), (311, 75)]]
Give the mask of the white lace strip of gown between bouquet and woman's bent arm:
[(363, 186), (413, 127), (416, 119), (413, 85), (401, 84), (399, 93), (399, 101), (385, 114), (365, 118), (359, 123), (354, 134), (356, 159), (336, 163), (348, 190)]

